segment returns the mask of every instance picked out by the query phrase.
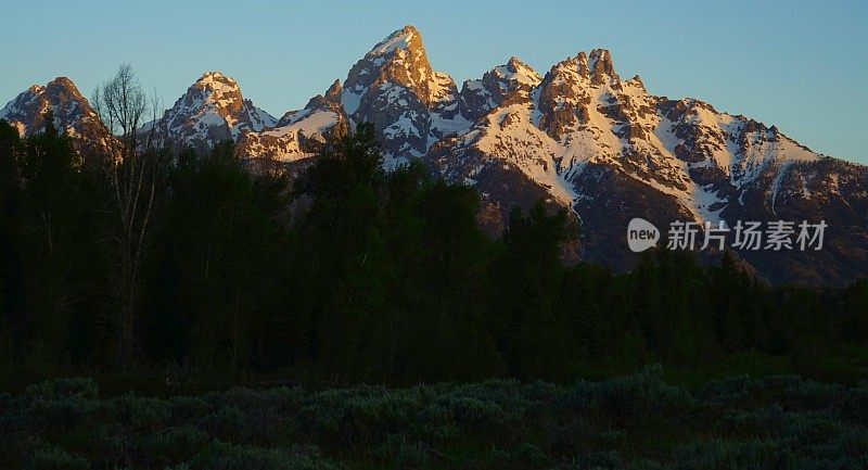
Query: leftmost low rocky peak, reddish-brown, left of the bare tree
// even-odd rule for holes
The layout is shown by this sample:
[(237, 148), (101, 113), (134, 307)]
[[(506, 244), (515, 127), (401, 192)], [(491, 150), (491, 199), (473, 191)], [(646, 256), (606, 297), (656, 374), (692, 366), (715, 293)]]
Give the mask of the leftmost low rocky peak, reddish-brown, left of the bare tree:
[(34, 85), (0, 110), (0, 119), (5, 119), (18, 129), (22, 137), (46, 129), (44, 114), (54, 114), (58, 129), (73, 138), (79, 151), (105, 149), (112, 138), (90, 107), (90, 103), (78, 88), (66, 77), (58, 77), (46, 86)]

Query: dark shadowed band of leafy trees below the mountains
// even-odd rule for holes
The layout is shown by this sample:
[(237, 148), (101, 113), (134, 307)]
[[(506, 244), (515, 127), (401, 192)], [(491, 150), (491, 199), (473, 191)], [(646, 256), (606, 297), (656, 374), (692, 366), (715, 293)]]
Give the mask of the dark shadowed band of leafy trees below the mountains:
[(77, 153), (46, 123), (21, 139), (0, 122), (5, 385), (166, 370), (569, 380), (596, 364), (690, 367), (744, 351), (809, 366), (868, 342), (865, 281), (770, 288), (732, 256), (704, 268), (666, 251), (624, 275), (565, 266), (560, 245), (577, 229), (541, 204), (494, 240), (472, 188), (418, 162), (385, 173), (369, 125), (291, 180), (252, 175), (231, 143), (125, 162)]

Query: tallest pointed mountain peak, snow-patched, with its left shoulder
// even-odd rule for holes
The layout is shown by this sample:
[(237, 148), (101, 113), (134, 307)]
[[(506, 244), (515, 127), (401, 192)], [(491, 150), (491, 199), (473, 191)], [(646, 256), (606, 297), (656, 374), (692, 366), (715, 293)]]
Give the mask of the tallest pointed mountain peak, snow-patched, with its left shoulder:
[(278, 127), (242, 137), (242, 154), (281, 160), (310, 156), (324, 137), (356, 123), (374, 124), (390, 162), (424, 155), (431, 142), (465, 127), (458, 113), (458, 90), (447, 74), (434, 72), (422, 36), (405, 26), (374, 45), (324, 96), (301, 111), (288, 112)]

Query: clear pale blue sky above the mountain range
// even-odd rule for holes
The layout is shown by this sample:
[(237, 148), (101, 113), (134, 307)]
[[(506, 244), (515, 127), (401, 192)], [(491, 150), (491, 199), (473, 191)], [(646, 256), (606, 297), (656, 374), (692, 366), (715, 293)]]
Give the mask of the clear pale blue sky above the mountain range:
[[(609, 49), (650, 92), (701, 98), (868, 164), (868, 2), (0, 1), (0, 101), (59, 75), (82, 93), (130, 63), (170, 105), (204, 71), (280, 116), (405, 24), (461, 84), (518, 55), (540, 75)], [(601, 4), (604, 3), (604, 4)], [(701, 4), (700, 4), (701, 3)]]

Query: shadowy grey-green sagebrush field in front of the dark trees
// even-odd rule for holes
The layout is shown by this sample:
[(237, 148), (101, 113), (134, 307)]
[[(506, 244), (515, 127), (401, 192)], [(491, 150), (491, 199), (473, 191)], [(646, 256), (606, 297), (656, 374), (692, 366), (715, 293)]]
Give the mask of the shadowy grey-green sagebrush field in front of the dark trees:
[(0, 468), (865, 469), (868, 383), (659, 368), (566, 385), (233, 389), (103, 396), (89, 379), (0, 394)]

